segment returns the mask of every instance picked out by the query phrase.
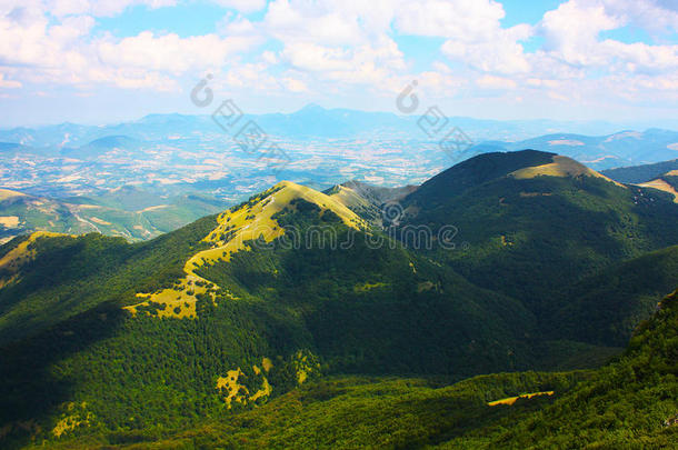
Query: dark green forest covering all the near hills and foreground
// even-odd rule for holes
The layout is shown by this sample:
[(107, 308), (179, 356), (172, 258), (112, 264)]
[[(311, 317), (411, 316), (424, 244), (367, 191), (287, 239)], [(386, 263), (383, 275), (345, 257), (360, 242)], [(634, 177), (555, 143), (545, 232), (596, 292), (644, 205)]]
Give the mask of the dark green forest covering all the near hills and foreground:
[[(675, 428), (660, 422), (678, 413), (675, 299), (612, 363), (570, 370), (618, 353), (678, 286), (678, 204), (588, 174), (509, 176), (552, 159), (524, 151), (458, 164), (402, 200), (407, 219), (387, 230), (349, 229), (292, 199), (273, 216), (285, 236), (196, 269), (208, 280), (188, 293), (196, 319), (121, 307), (177, 286), (216, 217), (133, 244), (38, 239), (18, 270), (0, 271), (1, 447), (669, 442)], [(450, 224), (455, 250), (408, 240), (408, 226), (436, 236)], [(205, 287), (213, 298), (193, 292)], [(251, 400), (229, 409), (217, 383), (237, 369), (236, 393)], [(266, 383), (272, 396), (253, 399)]]

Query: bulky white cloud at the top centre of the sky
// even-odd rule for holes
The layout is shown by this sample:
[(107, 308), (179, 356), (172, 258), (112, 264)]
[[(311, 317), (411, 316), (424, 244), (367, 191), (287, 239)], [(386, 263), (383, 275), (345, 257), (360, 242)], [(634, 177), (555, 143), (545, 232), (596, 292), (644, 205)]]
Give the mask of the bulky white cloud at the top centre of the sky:
[(387, 33), (393, 2), (276, 0), (262, 32), (283, 44), (281, 62), (322, 82), (385, 89), (406, 69), (402, 52)]

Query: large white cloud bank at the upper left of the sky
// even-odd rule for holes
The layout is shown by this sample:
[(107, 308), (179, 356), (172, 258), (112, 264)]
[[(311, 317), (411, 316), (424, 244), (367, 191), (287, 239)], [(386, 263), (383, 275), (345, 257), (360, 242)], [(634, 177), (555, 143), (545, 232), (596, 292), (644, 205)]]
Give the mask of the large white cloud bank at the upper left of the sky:
[[(96, 16), (118, 13), (130, 4), (151, 8), (173, 4), (147, 1), (11, 1), (0, 6), (0, 88), (20, 81), (73, 84), (89, 89), (112, 84), (124, 89), (178, 89), (177, 76), (189, 70), (220, 68), (227, 59), (255, 46), (256, 37), (216, 33), (180, 38), (143, 31), (124, 39), (92, 37)], [(48, 9), (51, 6), (53, 9)], [(58, 20), (52, 14), (63, 16)], [(12, 80), (8, 79), (12, 77)], [(19, 83), (19, 84), (18, 84)]]

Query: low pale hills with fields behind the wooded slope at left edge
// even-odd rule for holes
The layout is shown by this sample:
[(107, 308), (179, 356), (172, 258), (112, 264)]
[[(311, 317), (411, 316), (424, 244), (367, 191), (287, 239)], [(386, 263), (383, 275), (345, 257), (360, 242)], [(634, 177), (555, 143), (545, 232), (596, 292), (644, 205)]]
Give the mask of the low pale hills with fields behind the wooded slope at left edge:
[(0, 218), (17, 218), (16, 224), (0, 222), (0, 241), (38, 230), (148, 240), (223, 208), (223, 202), (208, 196), (163, 198), (134, 187), (60, 200), (0, 189)]

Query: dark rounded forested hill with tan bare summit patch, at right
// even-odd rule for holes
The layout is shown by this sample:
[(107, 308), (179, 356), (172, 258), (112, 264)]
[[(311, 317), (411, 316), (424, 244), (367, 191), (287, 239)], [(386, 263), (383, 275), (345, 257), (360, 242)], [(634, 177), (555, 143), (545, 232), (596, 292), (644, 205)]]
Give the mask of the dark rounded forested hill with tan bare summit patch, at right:
[(457, 164), (403, 206), (405, 230), (458, 230), (457, 249), (436, 250), (432, 258), (521, 300), (538, 317), (555, 293), (586, 276), (678, 242), (678, 204), (670, 196), (618, 184), (568, 158), (531, 150)]

